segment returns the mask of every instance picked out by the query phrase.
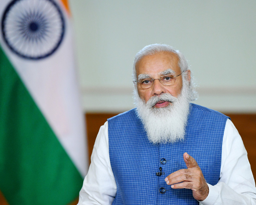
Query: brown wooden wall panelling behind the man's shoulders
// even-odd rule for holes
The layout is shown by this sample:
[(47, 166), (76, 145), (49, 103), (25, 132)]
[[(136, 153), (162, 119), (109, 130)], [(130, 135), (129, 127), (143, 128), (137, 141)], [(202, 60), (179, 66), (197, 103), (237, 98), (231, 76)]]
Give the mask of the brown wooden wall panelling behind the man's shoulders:
[[(117, 113), (87, 113), (87, 138), (88, 138), (88, 152), (89, 158), (92, 154), (93, 145), (96, 136), (99, 132), (100, 126), (103, 125), (108, 118), (115, 116)], [(248, 158), (251, 163), (252, 173), (256, 178), (256, 114), (228, 114), (240, 133), (244, 146), (248, 153)], [(90, 160), (89, 160), (90, 161)]]

